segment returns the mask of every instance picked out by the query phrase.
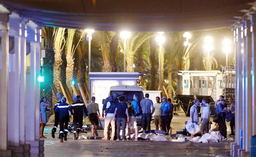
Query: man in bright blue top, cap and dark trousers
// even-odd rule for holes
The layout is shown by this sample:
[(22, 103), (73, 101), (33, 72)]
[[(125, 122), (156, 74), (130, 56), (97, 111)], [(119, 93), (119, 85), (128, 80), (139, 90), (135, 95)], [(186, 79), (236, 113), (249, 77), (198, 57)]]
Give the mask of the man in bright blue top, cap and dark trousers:
[(171, 110), (171, 104), (167, 102), (166, 96), (163, 96), (163, 98), (161, 98), (161, 100), (162, 100), (161, 119), (162, 119), (163, 131), (169, 132), (169, 130), (170, 130), (169, 114), (170, 114), (170, 110)]

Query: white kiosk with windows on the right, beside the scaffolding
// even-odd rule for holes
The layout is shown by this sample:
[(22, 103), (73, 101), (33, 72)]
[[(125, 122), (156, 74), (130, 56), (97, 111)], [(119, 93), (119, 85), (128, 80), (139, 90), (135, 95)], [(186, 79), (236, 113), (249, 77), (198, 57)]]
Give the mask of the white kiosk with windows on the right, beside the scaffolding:
[(212, 71), (179, 71), (182, 75), (182, 94), (212, 96), (214, 101), (222, 95), (222, 72)]

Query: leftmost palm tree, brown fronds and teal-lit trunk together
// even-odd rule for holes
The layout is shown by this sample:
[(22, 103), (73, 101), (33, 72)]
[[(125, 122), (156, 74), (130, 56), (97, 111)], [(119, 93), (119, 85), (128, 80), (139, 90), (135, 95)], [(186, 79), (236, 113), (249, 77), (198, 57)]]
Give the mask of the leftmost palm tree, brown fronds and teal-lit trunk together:
[(46, 44), (45, 48), (45, 58), (44, 60), (44, 77), (45, 82), (43, 83), (43, 89), (45, 90), (45, 96), (47, 96), (47, 100), (52, 104), (52, 90), (50, 83), (53, 82), (53, 65), (54, 65), (54, 42), (56, 39), (56, 34), (58, 32), (58, 28), (56, 27), (44, 27), (43, 35), (44, 41)]

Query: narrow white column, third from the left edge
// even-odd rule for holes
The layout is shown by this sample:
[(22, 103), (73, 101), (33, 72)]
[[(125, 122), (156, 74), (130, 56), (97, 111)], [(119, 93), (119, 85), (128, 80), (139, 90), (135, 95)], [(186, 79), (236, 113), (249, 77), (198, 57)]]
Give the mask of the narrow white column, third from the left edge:
[(19, 89), (19, 141), (25, 144), (26, 117), (26, 20), (21, 21), (21, 53), (20, 53), (20, 89)]

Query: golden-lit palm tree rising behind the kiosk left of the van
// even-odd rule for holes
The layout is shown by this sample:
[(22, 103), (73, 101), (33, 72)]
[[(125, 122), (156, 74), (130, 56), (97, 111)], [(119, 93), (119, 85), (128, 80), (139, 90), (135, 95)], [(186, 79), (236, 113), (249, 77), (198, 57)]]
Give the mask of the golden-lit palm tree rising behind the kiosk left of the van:
[(115, 32), (111, 31), (95, 31), (95, 36), (93, 41), (95, 44), (100, 47), (100, 51), (102, 52), (102, 57), (104, 61), (104, 65), (102, 67), (102, 72), (111, 72), (111, 65), (109, 61), (109, 51), (110, 51), (110, 41), (115, 35)]

